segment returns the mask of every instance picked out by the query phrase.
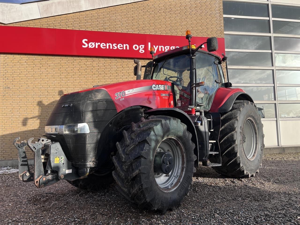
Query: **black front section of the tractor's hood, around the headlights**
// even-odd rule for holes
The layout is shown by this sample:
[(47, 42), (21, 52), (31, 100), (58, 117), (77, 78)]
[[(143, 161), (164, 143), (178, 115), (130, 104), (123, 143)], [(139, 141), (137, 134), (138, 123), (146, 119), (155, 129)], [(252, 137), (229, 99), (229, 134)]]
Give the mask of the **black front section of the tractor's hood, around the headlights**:
[(67, 159), (76, 164), (97, 161), (98, 141), (107, 123), (117, 113), (104, 89), (63, 95), (55, 105), (47, 125), (87, 123), (89, 134), (53, 134), (49, 138), (61, 144)]

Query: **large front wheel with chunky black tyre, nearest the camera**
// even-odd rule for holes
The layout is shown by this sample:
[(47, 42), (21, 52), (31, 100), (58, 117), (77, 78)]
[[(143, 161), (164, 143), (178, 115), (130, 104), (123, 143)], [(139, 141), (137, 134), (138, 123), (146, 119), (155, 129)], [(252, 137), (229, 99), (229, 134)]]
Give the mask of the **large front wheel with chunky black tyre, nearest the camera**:
[[(132, 123), (123, 135), (113, 157), (117, 189), (139, 208), (173, 210), (189, 194), (196, 172), (195, 145), (187, 126), (170, 116), (150, 116)], [(167, 166), (172, 167), (169, 173), (161, 169)]]

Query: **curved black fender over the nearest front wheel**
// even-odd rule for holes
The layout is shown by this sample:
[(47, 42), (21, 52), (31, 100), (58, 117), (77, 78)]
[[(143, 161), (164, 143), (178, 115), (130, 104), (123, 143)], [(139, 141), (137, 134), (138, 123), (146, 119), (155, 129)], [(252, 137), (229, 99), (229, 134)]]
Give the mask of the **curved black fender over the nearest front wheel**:
[(194, 154), (197, 159), (195, 161), (195, 167), (198, 167), (199, 164), (199, 148), (198, 148), (198, 138), (195, 126), (190, 117), (184, 113), (182, 110), (176, 108), (159, 108), (159, 109), (151, 109), (145, 112), (146, 115), (155, 116), (155, 115), (164, 115), (164, 116), (172, 116), (177, 119), (180, 119), (182, 123), (187, 125), (187, 131), (192, 134), (192, 142), (195, 144)]

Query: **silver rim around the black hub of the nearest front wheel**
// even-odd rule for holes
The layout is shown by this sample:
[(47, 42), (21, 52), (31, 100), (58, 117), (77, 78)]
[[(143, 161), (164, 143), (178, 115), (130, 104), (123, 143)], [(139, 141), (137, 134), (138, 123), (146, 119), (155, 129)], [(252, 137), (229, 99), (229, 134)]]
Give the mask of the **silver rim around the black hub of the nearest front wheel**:
[(173, 169), (169, 174), (154, 173), (155, 181), (162, 190), (172, 191), (184, 174), (184, 149), (181, 143), (174, 137), (164, 139), (158, 146), (156, 153), (166, 152), (173, 157)]

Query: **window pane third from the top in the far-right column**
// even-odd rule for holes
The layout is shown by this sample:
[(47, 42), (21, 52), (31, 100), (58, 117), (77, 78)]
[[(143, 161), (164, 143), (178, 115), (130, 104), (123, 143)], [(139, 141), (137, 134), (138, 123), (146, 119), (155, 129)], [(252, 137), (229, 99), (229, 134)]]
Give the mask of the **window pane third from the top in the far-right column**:
[(276, 51), (300, 52), (300, 38), (274, 37), (274, 49)]

